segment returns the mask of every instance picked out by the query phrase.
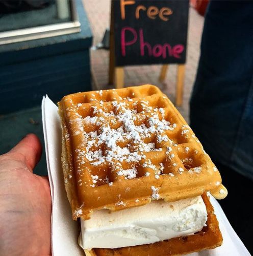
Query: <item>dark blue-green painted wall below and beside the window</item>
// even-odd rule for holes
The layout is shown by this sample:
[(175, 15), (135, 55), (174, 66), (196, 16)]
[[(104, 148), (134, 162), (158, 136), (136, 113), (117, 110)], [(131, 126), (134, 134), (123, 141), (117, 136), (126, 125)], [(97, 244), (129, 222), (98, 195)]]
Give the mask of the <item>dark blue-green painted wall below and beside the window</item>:
[(91, 90), (92, 34), (80, 0), (81, 32), (0, 46), (0, 114)]

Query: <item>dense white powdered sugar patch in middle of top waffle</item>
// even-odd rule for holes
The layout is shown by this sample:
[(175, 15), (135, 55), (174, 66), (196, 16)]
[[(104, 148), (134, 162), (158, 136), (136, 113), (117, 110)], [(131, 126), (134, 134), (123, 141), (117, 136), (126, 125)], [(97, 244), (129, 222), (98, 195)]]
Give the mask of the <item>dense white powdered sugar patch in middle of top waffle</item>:
[[(160, 132), (170, 129), (170, 123), (168, 121), (164, 119), (159, 120), (159, 117), (156, 114), (148, 119), (148, 127), (144, 123), (138, 126), (134, 123), (137, 114), (136, 110), (126, 108), (125, 102), (113, 101), (112, 105), (115, 108), (115, 113), (102, 112), (102, 109), (97, 110), (97, 107), (93, 106), (93, 114), (99, 112), (104, 116), (113, 117), (115, 122), (120, 122), (122, 124), (117, 129), (112, 129), (110, 124), (101, 122), (97, 116), (83, 118), (83, 121), (86, 123), (100, 126), (100, 129), (95, 136), (94, 132), (85, 133), (85, 137), (87, 138), (87, 141), (89, 141), (86, 146), (85, 157), (92, 165), (97, 166), (105, 161), (110, 162), (112, 160), (138, 162), (142, 158), (145, 158), (143, 154), (138, 154), (138, 152), (150, 152), (153, 150), (161, 151), (160, 148), (156, 148), (154, 142), (144, 143), (144, 139), (150, 137), (150, 134), (152, 133), (157, 133), (158, 141), (168, 141), (166, 135), (161, 136), (159, 134)], [(146, 108), (150, 107), (146, 106)], [(135, 152), (130, 152), (128, 147), (119, 147), (118, 143), (125, 140), (134, 141), (136, 147)], [(96, 144), (97, 146), (105, 144), (106, 150), (104, 152), (102, 152), (102, 150), (90, 151), (93, 144)]]

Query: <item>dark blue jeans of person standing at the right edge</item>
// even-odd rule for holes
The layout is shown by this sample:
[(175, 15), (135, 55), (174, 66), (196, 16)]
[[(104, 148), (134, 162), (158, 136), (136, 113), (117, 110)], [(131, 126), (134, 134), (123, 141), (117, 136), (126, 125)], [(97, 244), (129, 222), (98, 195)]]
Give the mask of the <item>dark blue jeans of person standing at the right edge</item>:
[(253, 1), (211, 1), (190, 101), (211, 158), (253, 180)]

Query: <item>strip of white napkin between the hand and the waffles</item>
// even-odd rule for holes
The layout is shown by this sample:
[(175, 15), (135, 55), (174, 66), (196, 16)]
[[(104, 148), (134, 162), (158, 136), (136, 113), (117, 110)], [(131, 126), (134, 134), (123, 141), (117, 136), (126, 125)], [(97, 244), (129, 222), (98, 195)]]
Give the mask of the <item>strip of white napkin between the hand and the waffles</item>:
[(64, 187), (61, 164), (61, 122), (58, 108), (47, 96), (42, 100), (42, 120), (46, 163), (52, 196), (52, 255), (83, 256), (78, 245), (79, 223), (72, 220), (70, 205)]

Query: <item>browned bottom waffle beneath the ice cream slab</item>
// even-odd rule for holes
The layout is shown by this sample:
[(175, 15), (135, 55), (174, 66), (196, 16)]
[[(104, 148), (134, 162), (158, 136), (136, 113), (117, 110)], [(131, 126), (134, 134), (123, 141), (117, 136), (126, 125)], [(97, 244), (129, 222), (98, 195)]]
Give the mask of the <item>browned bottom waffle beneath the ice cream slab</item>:
[(205, 249), (213, 249), (222, 244), (219, 223), (214, 209), (206, 194), (202, 195), (207, 207), (207, 226), (201, 231), (186, 237), (172, 238), (154, 244), (137, 245), (117, 249), (94, 248), (86, 252), (86, 256), (157, 256), (182, 255)]

